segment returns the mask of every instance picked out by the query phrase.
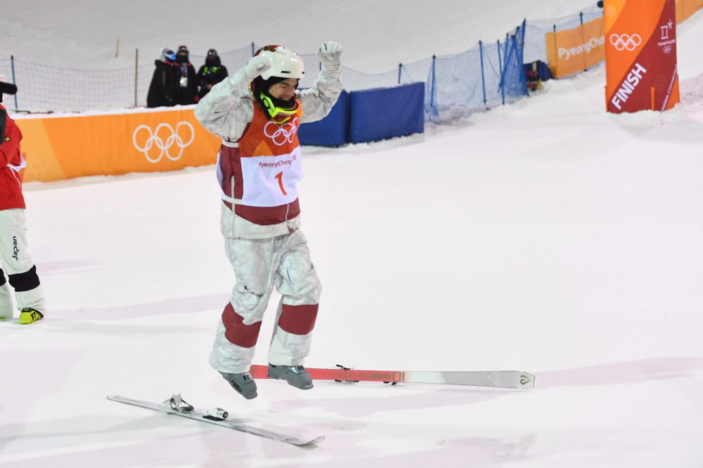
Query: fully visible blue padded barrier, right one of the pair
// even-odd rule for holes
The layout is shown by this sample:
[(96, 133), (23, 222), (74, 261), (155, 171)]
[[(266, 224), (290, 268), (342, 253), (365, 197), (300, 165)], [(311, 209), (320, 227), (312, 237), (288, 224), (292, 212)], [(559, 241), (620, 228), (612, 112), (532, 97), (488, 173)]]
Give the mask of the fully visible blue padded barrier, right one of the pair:
[(425, 83), (352, 91), (349, 142), (385, 140), (425, 131)]

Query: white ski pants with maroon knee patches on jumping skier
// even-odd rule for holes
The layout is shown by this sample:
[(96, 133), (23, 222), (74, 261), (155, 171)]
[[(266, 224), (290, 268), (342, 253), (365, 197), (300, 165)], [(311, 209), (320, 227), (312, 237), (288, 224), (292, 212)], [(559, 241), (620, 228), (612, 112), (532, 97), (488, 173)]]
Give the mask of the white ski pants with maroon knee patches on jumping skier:
[(309, 354), (321, 285), (299, 229), (270, 239), (225, 239), (236, 276), (217, 326), (210, 365), (222, 373), (247, 372), (273, 287), (282, 295), (269, 347), (269, 363), (297, 366)]

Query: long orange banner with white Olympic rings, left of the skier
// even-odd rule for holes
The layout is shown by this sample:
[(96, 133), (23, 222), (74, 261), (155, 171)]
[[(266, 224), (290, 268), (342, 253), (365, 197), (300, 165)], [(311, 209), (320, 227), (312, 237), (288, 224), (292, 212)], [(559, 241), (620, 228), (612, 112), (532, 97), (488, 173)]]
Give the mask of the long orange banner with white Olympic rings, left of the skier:
[(217, 160), (220, 140), (193, 107), (89, 116), (13, 116), (22, 131), (25, 182), (175, 171)]

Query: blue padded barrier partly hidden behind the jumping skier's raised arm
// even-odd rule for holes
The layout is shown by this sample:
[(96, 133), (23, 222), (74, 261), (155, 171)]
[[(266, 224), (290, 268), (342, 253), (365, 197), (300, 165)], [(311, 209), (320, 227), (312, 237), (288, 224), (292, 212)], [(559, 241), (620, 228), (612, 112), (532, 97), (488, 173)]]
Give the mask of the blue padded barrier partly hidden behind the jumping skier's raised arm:
[(324, 119), (300, 125), (298, 140), (301, 145), (342, 146), (347, 143), (348, 132), (349, 93), (342, 91), (334, 107)]

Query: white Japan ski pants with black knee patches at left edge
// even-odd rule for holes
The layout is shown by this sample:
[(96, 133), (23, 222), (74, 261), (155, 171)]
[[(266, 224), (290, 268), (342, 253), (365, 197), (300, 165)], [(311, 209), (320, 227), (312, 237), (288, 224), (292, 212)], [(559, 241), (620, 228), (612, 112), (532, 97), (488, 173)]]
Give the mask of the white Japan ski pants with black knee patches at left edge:
[(27, 253), (25, 224), (25, 210), (0, 210), (0, 317), (6, 319), (13, 316), (13, 309), (5, 273), (10, 286), (15, 290), (19, 310), (32, 307), (42, 314), (45, 310), (37, 267)]

